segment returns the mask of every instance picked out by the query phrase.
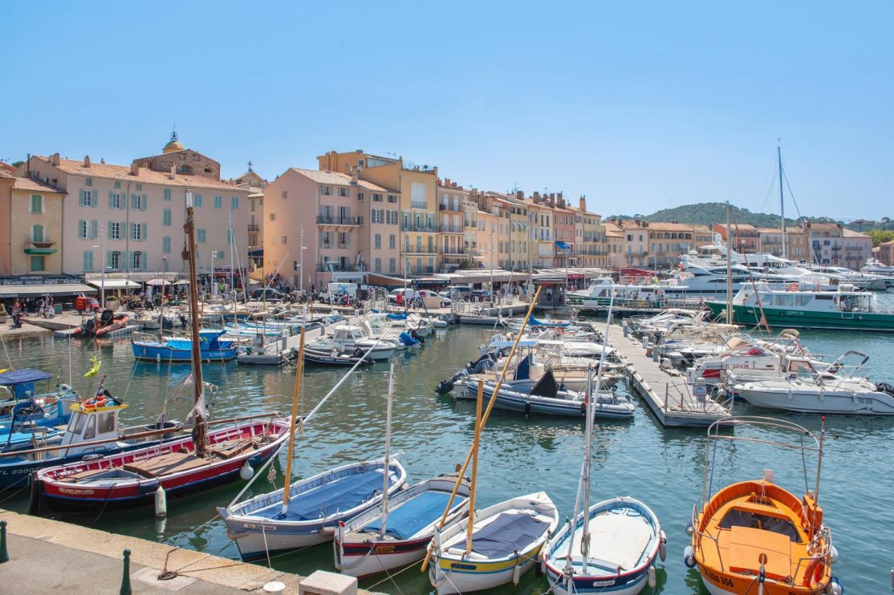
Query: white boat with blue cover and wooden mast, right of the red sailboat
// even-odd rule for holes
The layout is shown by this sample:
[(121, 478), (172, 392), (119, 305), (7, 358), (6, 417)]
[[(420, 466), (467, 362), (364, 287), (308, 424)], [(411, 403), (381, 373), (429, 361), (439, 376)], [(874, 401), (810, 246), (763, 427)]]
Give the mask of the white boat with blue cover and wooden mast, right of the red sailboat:
[[(303, 350), (302, 329), (295, 389), (292, 394), (291, 441), (283, 488), (217, 509), (227, 525), (227, 534), (236, 541), (243, 560), (330, 541), (337, 524), (396, 495), (407, 482), (407, 472), (403, 466), (390, 457), (391, 415), (388, 415), (387, 420), (383, 459), (342, 465), (317, 473), (301, 482), (291, 482), (300, 378), (304, 364)], [(391, 374), (393, 382), (393, 364)], [(325, 402), (325, 398), (322, 402)], [(389, 403), (389, 414), (390, 412)], [(302, 420), (302, 425), (306, 419)], [(240, 496), (236, 497), (237, 500), (239, 498)]]

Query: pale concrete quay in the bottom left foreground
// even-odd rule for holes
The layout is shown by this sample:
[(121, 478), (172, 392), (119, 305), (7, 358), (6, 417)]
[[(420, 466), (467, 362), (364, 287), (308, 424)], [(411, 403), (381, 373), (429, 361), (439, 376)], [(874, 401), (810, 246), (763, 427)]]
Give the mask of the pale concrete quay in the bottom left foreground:
[[(122, 584), (124, 549), (131, 550), (131, 588), (137, 594), (260, 593), (273, 581), (285, 584), (283, 593), (298, 593), (304, 580), (298, 574), (265, 566), (3, 509), (0, 520), (7, 523), (10, 556), (0, 564), (0, 591), (6, 593), (117, 593)], [(164, 570), (174, 574), (159, 580)]]

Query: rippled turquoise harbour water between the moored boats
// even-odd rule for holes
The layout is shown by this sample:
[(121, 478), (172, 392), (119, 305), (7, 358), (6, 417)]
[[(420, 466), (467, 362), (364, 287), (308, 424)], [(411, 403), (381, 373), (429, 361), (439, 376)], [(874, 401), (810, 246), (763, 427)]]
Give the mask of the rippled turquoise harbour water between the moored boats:
[[(450, 472), (461, 463), (472, 440), (474, 403), (454, 403), (437, 397), (434, 385), (477, 355), (477, 347), (490, 331), (454, 327), (439, 332), (426, 345), (403, 356), (396, 371), (393, 449), (403, 452), (401, 460), (410, 482)], [(874, 365), (875, 381), (894, 380), (890, 354), (894, 336), (871, 333), (805, 332), (802, 342), (814, 351), (839, 354), (848, 348), (865, 351)], [(183, 365), (133, 364), (127, 339), (93, 342), (50, 337), (6, 341), (5, 353), (17, 367), (61, 370), (63, 381), (69, 369), (76, 388), (86, 393), (90, 380), (80, 378), (89, 368), (89, 357), (102, 359), (106, 385), (123, 395), (131, 407), (127, 423), (154, 419), (165, 399), (169, 416), (183, 419), (188, 399), (171, 399), (189, 373)], [(71, 351), (71, 359), (69, 352)], [(71, 361), (71, 366), (69, 362)], [(218, 385), (214, 415), (218, 418), (249, 412), (287, 411), (291, 399), (293, 368), (211, 365), (206, 380)], [(302, 390), (302, 411), (332, 388), (342, 371), (309, 369)], [(384, 448), (384, 413), (388, 365), (362, 369), (320, 409), (301, 437), (296, 457), (296, 475), (307, 477), (327, 468), (366, 458), (381, 457)], [(706, 593), (695, 571), (682, 562), (688, 544), (684, 532), (692, 507), (701, 499), (704, 477), (704, 431), (664, 430), (636, 400), (634, 419), (627, 423), (597, 424), (593, 448), (593, 498), (634, 496), (641, 499), (661, 520), (668, 536), (668, 559), (658, 572), (659, 586), (651, 592)], [(761, 414), (747, 406), (737, 413)], [(766, 415), (766, 412), (763, 412)], [(819, 431), (818, 415), (773, 414)], [(820, 503), (831, 526), (840, 553), (834, 568), (851, 593), (880, 593), (890, 590), (890, 567), (894, 562), (894, 509), (890, 507), (891, 457), (894, 419), (831, 417), (826, 423)], [(834, 438), (831, 438), (834, 436)], [(495, 410), (485, 428), (480, 453), (478, 501), (481, 507), (512, 496), (546, 490), (559, 506), (562, 517), (571, 515), (578, 487), (583, 452), (583, 423), (561, 419), (526, 419), (523, 415)], [(282, 485), (278, 465), (277, 484)], [(724, 447), (718, 451), (714, 484), (760, 477), (772, 468), (777, 482), (800, 494), (804, 491), (804, 467), (800, 455), (765, 447)], [(815, 463), (807, 462), (811, 487)], [(163, 541), (223, 557), (238, 557), (236, 546), (227, 540), (223, 523), (215, 519), (215, 507), (224, 506), (243, 482), (209, 490), (188, 499), (171, 500), (169, 515), (156, 520), (149, 508), (105, 513), (99, 518), (71, 520), (112, 532)], [(259, 478), (254, 489), (266, 491), (271, 484)], [(27, 491), (27, 490), (26, 490)], [(0, 493), (0, 507), (24, 511), (26, 491)], [(249, 491), (249, 494), (252, 493)], [(317, 568), (332, 568), (332, 548), (318, 546), (275, 557), (273, 566), (307, 574)], [(174, 568), (175, 569), (175, 568)], [(385, 582), (376, 584), (384, 578)], [(394, 581), (376, 577), (361, 586), (388, 593), (427, 593), (427, 575), (411, 568)], [(543, 593), (546, 582), (533, 572), (518, 586), (500, 593)], [(650, 592), (646, 589), (645, 592)]]

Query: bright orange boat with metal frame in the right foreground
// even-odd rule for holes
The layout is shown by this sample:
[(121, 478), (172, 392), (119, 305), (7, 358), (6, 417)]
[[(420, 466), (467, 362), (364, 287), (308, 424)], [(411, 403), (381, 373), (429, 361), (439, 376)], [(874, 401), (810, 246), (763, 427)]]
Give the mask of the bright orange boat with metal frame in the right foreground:
[[(742, 426), (760, 430), (762, 437), (720, 433)], [(766, 432), (793, 432), (797, 441), (768, 440), (763, 437)], [(838, 553), (832, 547), (831, 531), (822, 524), (822, 507), (817, 503), (822, 437), (822, 431), (816, 438), (796, 423), (767, 417), (726, 417), (708, 429), (702, 508), (694, 507), (692, 523), (687, 526), (692, 543), (684, 561), (690, 568), (698, 567), (712, 595), (840, 595), (841, 585), (832, 577)], [(774, 483), (771, 469), (764, 469), (760, 480), (733, 483), (712, 494), (711, 467), (721, 440), (800, 449), (805, 457), (807, 452), (815, 452), (814, 490), (807, 490), (799, 499)], [(804, 470), (806, 486), (806, 466)]]

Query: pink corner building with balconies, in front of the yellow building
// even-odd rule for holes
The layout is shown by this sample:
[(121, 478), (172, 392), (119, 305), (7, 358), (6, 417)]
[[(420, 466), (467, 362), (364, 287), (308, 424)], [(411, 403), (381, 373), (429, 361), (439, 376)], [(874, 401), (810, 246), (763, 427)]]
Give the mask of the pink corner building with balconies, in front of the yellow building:
[(305, 289), (399, 274), (399, 214), (396, 192), (356, 174), (290, 168), (264, 189), (264, 272)]

